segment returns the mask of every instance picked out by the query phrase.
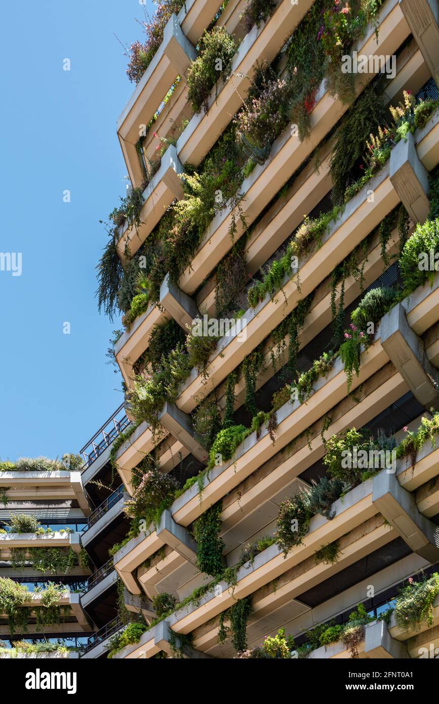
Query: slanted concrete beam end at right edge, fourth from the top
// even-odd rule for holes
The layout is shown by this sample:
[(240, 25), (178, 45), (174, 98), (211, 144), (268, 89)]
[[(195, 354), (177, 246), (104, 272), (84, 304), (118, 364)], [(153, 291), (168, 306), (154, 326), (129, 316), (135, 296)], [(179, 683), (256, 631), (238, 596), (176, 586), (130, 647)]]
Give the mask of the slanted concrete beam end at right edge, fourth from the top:
[(395, 473), (376, 474), (372, 503), (414, 553), (428, 562), (439, 560), (439, 527), (419, 513), (414, 496), (400, 486)]

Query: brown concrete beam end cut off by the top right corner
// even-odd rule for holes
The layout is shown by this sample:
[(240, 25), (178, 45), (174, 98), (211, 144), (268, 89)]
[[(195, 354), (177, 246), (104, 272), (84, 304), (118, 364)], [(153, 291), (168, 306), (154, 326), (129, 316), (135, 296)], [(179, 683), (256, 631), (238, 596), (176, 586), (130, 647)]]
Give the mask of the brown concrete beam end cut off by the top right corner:
[(431, 75), (439, 84), (438, 0), (400, 0), (400, 8)]

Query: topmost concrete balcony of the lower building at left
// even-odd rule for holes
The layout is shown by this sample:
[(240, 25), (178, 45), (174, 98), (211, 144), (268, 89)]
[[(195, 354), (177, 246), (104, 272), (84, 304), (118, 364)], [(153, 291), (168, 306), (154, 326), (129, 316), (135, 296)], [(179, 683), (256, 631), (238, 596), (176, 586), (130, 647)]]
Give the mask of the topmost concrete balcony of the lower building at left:
[(0, 472), (0, 488), (8, 501), (77, 501), (84, 515), (91, 510), (81, 472)]

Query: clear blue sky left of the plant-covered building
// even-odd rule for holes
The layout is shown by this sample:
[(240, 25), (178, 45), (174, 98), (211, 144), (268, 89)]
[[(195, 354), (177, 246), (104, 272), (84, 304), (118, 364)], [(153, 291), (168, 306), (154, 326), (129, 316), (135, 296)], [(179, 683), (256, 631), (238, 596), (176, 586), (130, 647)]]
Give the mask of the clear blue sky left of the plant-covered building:
[(0, 271), (3, 460), (78, 451), (123, 400), (94, 268), (127, 172), (115, 124), (133, 86), (113, 32), (141, 39), (142, 17), (139, 0), (2, 7), (0, 251), (23, 253), (21, 276)]

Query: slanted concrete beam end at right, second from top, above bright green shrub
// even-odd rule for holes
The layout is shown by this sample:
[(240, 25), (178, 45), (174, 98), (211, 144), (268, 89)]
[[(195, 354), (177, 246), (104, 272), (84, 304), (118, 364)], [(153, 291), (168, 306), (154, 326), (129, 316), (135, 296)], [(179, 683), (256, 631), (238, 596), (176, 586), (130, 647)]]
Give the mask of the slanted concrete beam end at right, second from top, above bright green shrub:
[(419, 161), (411, 132), (392, 149), (389, 178), (413, 222), (425, 222), (430, 210), (428, 171)]

